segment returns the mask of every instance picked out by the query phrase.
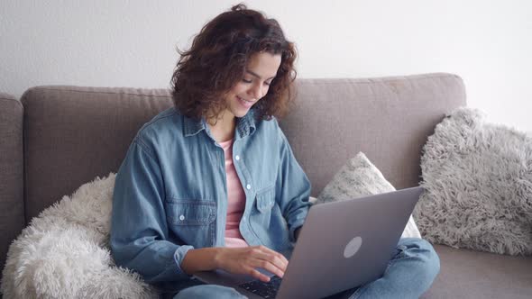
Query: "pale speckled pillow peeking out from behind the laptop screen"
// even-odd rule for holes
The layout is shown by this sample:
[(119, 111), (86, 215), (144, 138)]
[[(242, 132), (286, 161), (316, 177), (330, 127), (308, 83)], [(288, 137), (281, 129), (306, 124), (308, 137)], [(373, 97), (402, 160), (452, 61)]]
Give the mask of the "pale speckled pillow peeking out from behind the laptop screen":
[[(381, 171), (362, 152), (359, 152), (338, 171), (333, 180), (317, 196), (316, 204), (391, 191), (395, 191), (395, 188), (382, 176)], [(411, 215), (401, 238), (421, 238)]]

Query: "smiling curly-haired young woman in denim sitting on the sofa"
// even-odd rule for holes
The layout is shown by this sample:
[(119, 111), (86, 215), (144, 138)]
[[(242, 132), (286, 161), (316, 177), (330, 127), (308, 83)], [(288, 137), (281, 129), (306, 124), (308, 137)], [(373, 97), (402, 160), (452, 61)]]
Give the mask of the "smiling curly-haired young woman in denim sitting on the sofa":
[[(279, 23), (236, 5), (181, 54), (175, 107), (146, 123), (115, 182), (115, 262), (174, 298), (239, 298), (194, 285), (197, 271), (282, 277), (310, 207), (310, 183), (274, 116), (293, 99), (296, 50)], [(401, 240), (385, 275), (339, 296), (418, 297), (439, 268), (423, 240)]]

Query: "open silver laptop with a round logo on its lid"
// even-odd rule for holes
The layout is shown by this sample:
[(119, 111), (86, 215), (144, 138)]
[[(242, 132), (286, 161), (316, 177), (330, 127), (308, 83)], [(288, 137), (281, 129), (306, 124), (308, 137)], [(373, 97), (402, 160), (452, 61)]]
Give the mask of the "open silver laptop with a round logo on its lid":
[(422, 190), (312, 206), (282, 280), (264, 284), (222, 270), (196, 278), (234, 287), (249, 298), (323, 298), (363, 285), (384, 273)]

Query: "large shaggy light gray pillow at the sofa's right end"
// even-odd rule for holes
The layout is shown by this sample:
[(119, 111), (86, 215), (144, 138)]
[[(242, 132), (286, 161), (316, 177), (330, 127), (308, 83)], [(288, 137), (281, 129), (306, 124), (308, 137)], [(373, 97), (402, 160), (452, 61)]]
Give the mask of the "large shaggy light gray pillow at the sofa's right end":
[(532, 254), (532, 138), (464, 107), (436, 126), (423, 151), (426, 192), (414, 215), (427, 240)]

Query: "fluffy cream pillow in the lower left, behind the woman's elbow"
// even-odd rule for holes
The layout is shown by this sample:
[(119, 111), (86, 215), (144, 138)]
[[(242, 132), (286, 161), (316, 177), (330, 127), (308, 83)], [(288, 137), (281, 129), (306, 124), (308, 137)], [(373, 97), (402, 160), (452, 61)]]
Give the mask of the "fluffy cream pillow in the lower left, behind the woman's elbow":
[(108, 240), (115, 174), (80, 186), (33, 218), (9, 247), (5, 298), (157, 298), (142, 278), (116, 267)]

